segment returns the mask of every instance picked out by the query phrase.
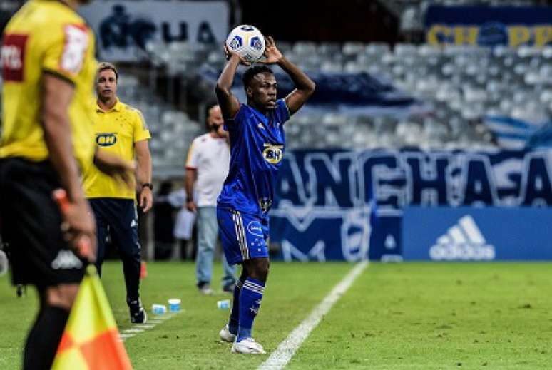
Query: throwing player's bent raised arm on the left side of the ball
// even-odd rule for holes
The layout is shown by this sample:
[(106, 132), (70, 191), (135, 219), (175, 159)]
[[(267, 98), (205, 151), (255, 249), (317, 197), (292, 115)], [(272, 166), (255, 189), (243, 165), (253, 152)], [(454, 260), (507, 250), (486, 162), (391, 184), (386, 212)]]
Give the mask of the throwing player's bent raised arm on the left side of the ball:
[(215, 86), (215, 93), (217, 94), (220, 110), (223, 111), (223, 117), (228, 120), (234, 118), (237, 111), (240, 110), (240, 102), (232, 95), (231, 91), (237, 66), (240, 63), (245, 65), (248, 65), (248, 63), (237, 53), (232, 53), (226, 46), (224, 48), (228, 62), (224, 66), (223, 73), (220, 73), (217, 86)]

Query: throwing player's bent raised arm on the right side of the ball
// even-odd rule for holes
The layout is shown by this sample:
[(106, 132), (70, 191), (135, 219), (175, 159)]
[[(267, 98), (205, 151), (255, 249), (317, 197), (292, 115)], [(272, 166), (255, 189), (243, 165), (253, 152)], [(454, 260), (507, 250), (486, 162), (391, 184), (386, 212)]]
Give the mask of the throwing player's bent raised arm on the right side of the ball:
[(265, 56), (266, 60), (259, 61), (259, 63), (277, 64), (291, 77), (293, 83), (295, 83), (295, 90), (285, 97), (287, 109), (290, 110), (290, 115), (292, 115), (299, 111), (299, 108), (301, 108), (312, 93), (315, 92), (315, 82), (280, 53), (271, 36), (266, 38)]

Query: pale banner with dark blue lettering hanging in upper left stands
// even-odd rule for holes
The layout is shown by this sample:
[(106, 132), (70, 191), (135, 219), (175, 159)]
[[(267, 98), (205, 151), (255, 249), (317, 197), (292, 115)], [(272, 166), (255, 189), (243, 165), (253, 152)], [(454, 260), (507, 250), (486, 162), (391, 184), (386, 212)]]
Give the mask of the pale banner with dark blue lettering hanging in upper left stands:
[[(224, 1), (96, 0), (79, 13), (98, 35), (101, 58), (109, 61), (146, 58), (148, 43), (220, 44), (229, 31)], [(176, 57), (186, 54), (182, 50)]]

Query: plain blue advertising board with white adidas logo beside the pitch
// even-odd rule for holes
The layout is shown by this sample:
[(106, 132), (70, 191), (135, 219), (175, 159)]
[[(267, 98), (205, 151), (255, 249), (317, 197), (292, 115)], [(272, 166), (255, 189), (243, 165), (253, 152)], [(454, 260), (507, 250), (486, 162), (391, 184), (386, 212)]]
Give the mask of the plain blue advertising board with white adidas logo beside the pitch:
[(404, 260), (550, 260), (552, 209), (408, 207)]

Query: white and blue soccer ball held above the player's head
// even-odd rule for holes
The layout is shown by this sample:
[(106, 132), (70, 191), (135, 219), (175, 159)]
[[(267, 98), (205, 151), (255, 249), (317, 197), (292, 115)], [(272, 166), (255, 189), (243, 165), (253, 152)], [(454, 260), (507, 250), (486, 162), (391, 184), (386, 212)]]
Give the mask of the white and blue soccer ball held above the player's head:
[(226, 46), (245, 61), (255, 63), (265, 53), (265, 36), (254, 26), (242, 24), (228, 34)]

